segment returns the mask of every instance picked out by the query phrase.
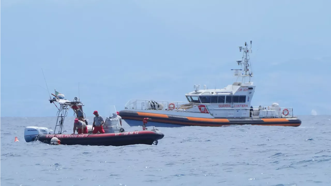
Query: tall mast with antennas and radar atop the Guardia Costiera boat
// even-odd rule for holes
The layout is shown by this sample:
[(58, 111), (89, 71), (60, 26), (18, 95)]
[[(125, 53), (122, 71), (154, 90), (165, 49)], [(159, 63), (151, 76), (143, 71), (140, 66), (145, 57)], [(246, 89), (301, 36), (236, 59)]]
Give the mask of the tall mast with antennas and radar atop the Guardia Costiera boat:
[[(242, 46), (239, 47), (239, 51), (241, 52), (243, 50), (243, 57), (242, 60), (237, 60), (237, 64), (240, 65), (240, 69), (231, 69), (235, 70), (233, 76), (238, 78), (242, 77), (242, 82), (246, 83), (246, 77), (249, 77), (249, 82), (251, 82), (251, 77), (253, 76), (253, 71), (251, 68), (251, 61), (249, 57), (249, 53), (252, 53), (252, 40), (251, 40), (251, 47), (248, 48), (246, 42), (245, 42), (245, 47), (243, 48)], [(239, 73), (239, 70), (243, 70), (242, 68), (244, 67), (244, 71), (241, 74)], [(250, 70), (251, 69), (251, 70)]]

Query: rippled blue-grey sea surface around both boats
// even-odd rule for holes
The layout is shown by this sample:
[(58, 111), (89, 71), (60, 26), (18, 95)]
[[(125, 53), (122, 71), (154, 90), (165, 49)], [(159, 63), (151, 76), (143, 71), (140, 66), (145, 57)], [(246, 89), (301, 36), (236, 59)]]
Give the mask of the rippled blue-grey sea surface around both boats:
[[(26, 143), (25, 126), (53, 129), (56, 117), (1, 117), (0, 185), (329, 186), (331, 116), (299, 118), (299, 127), (158, 127), (157, 146), (106, 147)], [(72, 133), (73, 118), (65, 123)]]

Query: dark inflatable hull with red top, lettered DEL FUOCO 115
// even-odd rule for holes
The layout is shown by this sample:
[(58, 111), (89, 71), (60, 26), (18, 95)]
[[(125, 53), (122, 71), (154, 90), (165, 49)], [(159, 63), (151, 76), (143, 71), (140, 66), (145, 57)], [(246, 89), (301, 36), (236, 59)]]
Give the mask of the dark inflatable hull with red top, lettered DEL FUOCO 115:
[(143, 130), (108, 134), (43, 134), (38, 140), (50, 144), (56, 137), (63, 145), (124, 146), (135, 144), (152, 145), (164, 137), (159, 130)]

